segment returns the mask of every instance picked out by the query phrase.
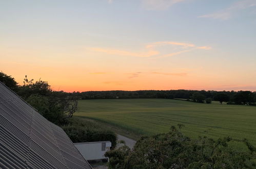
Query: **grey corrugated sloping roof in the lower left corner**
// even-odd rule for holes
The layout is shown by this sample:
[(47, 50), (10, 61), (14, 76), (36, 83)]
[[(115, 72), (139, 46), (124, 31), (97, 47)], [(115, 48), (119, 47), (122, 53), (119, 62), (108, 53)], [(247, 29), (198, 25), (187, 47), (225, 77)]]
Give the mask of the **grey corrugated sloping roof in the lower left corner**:
[(91, 168), (67, 134), (0, 82), (0, 168)]

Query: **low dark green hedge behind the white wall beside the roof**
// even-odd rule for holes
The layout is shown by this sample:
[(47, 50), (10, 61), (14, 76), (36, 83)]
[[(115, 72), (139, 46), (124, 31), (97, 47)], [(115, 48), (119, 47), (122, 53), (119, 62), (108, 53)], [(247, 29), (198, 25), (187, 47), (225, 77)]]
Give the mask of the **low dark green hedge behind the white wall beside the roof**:
[(116, 146), (116, 134), (94, 122), (69, 119), (62, 128), (72, 142), (110, 141), (112, 147)]

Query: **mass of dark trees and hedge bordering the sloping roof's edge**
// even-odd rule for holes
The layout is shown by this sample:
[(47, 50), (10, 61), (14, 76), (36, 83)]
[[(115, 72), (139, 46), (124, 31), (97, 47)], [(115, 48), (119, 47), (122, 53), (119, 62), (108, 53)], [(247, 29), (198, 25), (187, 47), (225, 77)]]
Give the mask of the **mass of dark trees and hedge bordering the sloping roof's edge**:
[(111, 141), (116, 145), (116, 134), (93, 122), (71, 119), (77, 109), (77, 97), (70, 94), (52, 91), (47, 81), (25, 76), (24, 84), (18, 85), (15, 79), (0, 72), (0, 81), (26, 100), (42, 116), (60, 125), (73, 142)]

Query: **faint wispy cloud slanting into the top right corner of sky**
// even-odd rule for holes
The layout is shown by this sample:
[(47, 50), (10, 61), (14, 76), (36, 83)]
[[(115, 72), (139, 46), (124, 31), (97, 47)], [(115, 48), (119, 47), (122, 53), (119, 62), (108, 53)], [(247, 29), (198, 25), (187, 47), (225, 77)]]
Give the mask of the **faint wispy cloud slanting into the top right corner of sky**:
[(243, 0), (243, 1), (235, 2), (230, 7), (223, 9), (221, 11), (202, 15), (199, 17), (227, 20), (231, 18), (235, 13), (238, 13), (244, 9), (251, 8), (251, 7), (256, 7), (255, 0)]

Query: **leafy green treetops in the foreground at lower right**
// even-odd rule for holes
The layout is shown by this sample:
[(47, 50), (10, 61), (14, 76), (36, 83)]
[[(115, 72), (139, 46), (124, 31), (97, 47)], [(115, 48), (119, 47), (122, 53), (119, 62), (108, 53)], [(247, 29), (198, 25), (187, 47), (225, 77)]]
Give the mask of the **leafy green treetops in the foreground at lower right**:
[[(190, 139), (174, 126), (171, 131), (138, 140), (133, 150), (119, 148), (106, 153), (109, 168), (254, 168), (255, 147), (248, 151), (229, 146), (230, 137)], [(243, 140), (236, 140), (244, 142)]]

